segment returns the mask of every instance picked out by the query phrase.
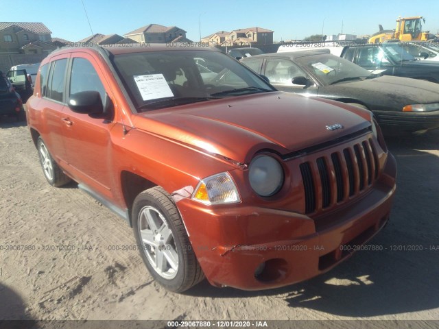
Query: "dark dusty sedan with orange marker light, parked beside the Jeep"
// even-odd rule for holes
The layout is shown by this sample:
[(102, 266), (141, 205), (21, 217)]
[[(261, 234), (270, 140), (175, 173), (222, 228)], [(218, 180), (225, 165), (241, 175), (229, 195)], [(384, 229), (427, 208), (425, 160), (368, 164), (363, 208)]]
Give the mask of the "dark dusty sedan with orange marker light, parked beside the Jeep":
[[(342, 56), (351, 50), (360, 53), (379, 50), (376, 46), (346, 49)], [(329, 49), (320, 49), (269, 53), (243, 58), (241, 62), (268, 77), (278, 90), (366, 108), (375, 114), (387, 134), (423, 133), (439, 127), (439, 84), (372, 74), (329, 52)]]

